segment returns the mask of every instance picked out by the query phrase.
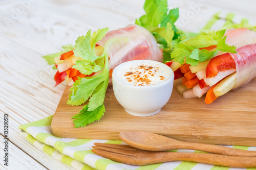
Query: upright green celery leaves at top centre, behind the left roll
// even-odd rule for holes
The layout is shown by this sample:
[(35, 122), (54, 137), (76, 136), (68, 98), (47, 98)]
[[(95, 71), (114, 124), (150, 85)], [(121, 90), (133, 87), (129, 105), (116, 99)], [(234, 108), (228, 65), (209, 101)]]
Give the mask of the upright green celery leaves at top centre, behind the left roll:
[(179, 9), (172, 9), (168, 12), (167, 0), (146, 0), (144, 4), (145, 15), (136, 19), (136, 24), (151, 31), (160, 47), (165, 51), (171, 51), (173, 40), (178, 40), (180, 34), (175, 26), (179, 17)]

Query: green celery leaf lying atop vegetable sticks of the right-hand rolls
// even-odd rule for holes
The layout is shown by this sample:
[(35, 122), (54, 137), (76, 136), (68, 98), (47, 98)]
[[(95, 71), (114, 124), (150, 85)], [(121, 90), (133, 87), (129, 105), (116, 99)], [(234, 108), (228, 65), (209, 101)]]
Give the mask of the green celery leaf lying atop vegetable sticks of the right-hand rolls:
[[(199, 35), (191, 38), (183, 43), (178, 43), (174, 48), (174, 51), (170, 54), (173, 61), (183, 64), (184, 59), (187, 64), (192, 66), (197, 65), (199, 62), (203, 62), (214, 57), (219, 51), (228, 53), (237, 53), (236, 47), (226, 44), (226, 36), (224, 36), (226, 30), (213, 32), (212, 35)], [(215, 45), (216, 49), (208, 51), (199, 48)]]

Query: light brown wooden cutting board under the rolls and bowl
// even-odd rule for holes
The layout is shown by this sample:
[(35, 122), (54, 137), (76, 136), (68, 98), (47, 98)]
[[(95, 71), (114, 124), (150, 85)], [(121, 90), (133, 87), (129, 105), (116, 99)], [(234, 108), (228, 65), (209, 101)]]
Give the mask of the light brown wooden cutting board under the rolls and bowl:
[(87, 139), (119, 139), (122, 131), (147, 131), (189, 142), (256, 146), (256, 79), (236, 91), (230, 91), (214, 103), (183, 99), (176, 91), (162, 110), (153, 116), (136, 117), (126, 113), (116, 101), (113, 89), (105, 97), (106, 113), (99, 122), (74, 128), (71, 117), (82, 106), (66, 105), (66, 87), (52, 119), (55, 136)]

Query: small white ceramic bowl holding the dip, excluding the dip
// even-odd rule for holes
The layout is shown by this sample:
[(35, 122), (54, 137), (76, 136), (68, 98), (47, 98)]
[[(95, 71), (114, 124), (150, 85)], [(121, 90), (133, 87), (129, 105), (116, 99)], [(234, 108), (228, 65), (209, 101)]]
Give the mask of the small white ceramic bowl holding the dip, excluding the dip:
[[(133, 66), (138, 62), (158, 65), (165, 69), (167, 79), (155, 85), (135, 86), (120, 78), (123, 67)], [(173, 91), (174, 72), (169, 66), (157, 61), (134, 60), (118, 65), (113, 70), (112, 80), (116, 99), (127, 113), (134, 116), (151, 116), (158, 113), (168, 102)]]

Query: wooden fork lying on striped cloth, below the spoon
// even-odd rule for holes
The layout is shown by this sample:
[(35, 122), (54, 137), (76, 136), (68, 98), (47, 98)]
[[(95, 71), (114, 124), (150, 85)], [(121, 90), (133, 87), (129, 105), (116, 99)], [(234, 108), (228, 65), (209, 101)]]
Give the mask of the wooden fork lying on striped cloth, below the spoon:
[(123, 144), (94, 144), (92, 151), (95, 154), (131, 165), (150, 165), (168, 161), (192, 161), (229, 167), (256, 167), (256, 157), (144, 151)]

